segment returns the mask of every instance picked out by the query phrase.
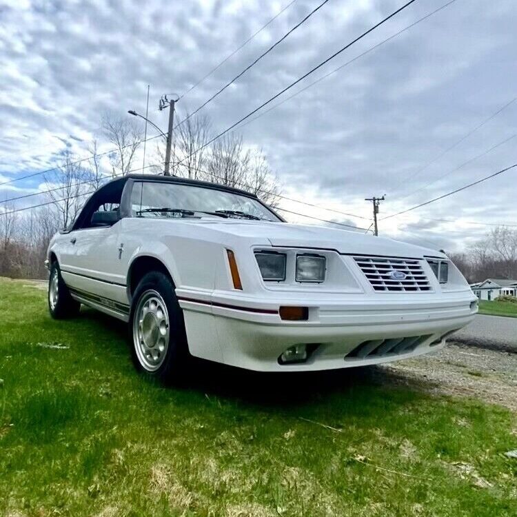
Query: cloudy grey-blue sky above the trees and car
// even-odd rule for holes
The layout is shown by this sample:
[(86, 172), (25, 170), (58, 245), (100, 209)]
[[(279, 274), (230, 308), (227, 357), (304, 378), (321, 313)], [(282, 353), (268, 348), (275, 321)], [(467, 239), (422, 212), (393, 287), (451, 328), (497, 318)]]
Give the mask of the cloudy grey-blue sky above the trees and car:
[[(187, 91), (289, 3), (0, 0), (0, 183), (56, 165), (66, 148), (87, 156), (89, 142), (101, 134), (101, 114), (145, 112), (148, 84), (150, 118), (165, 128), (167, 115), (157, 110), (161, 94)], [(292, 2), (183, 97), (179, 115), (197, 108), (318, 3)], [(239, 120), (403, 3), (328, 1), (203, 109), (214, 131)], [(514, 0), (456, 0), (346, 64), (445, 3), (417, 0), (239, 130), (247, 145), (263, 149), (285, 195), (369, 218), (371, 206), (364, 198), (386, 194), (382, 218), (517, 162), (517, 101), (511, 103), (517, 97)], [(381, 221), (381, 233), (460, 251), (490, 229), (474, 223), (517, 225), (516, 179), (517, 168)], [(0, 200), (41, 189), (41, 182), (34, 176), (1, 185)], [(38, 199), (19, 201), (17, 207)], [(300, 203), (282, 206), (359, 226), (371, 222)]]

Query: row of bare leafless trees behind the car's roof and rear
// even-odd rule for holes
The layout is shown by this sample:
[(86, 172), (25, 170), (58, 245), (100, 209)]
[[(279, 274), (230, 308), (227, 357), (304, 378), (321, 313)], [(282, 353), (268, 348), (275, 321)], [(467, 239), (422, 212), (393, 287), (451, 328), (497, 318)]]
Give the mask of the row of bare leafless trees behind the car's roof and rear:
[[(43, 174), (41, 190), (48, 192), (34, 196), (31, 203), (48, 204), (15, 212), (23, 206), (13, 201), (0, 203), (0, 276), (45, 278), (43, 262), (52, 235), (74, 221), (90, 193), (130, 172), (163, 174), (165, 142), (161, 139), (147, 143), (143, 170), (141, 124), (105, 114), (101, 128), (99, 137), (85, 148), (90, 159), (77, 163), (81, 158), (66, 149), (57, 167)], [(207, 116), (185, 116), (173, 134), (171, 173), (239, 187), (273, 207), (278, 205), (281, 185), (264, 152), (247, 145), (236, 133), (225, 134), (208, 145), (213, 134)], [(104, 155), (102, 143), (113, 151)]]

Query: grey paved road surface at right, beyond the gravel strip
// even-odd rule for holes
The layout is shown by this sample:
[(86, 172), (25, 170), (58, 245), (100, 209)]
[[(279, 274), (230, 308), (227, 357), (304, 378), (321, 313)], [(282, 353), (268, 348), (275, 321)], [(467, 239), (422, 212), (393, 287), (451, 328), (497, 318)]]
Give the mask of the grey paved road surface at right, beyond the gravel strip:
[(478, 314), (450, 339), (465, 345), (517, 353), (517, 318)]

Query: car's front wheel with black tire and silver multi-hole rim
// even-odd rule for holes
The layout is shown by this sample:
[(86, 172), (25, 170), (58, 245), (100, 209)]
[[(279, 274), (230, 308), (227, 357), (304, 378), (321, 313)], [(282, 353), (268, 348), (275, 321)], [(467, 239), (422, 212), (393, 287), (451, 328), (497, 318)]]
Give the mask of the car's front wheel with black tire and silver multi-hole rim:
[[(162, 303), (165, 307), (161, 307)], [(148, 307), (147, 312), (145, 307)], [(167, 319), (162, 319), (160, 314)], [(163, 334), (165, 321), (168, 324)], [(185, 380), (190, 360), (185, 320), (174, 285), (167, 275), (153, 271), (141, 279), (132, 297), (129, 331), (131, 356), (139, 372), (165, 384)], [(161, 346), (163, 351), (159, 349)]]

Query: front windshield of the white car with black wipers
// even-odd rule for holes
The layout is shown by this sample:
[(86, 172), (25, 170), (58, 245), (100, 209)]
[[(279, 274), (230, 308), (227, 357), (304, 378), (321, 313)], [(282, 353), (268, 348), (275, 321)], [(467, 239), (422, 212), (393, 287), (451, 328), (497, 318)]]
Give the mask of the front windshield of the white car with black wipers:
[(280, 221), (262, 203), (235, 192), (210, 187), (139, 181), (131, 193), (132, 215), (136, 217), (214, 217)]

